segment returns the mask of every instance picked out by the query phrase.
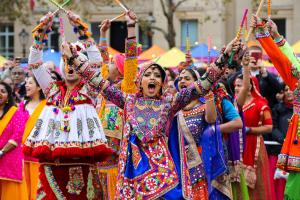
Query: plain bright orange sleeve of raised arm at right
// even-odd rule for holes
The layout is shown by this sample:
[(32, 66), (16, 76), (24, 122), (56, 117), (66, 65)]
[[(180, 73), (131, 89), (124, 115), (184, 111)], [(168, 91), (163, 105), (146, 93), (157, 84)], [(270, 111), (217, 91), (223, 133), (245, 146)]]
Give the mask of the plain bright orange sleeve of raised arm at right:
[(297, 79), (292, 74), (292, 64), (289, 59), (280, 51), (278, 46), (270, 37), (269, 32), (257, 32), (256, 38), (270, 57), (272, 63), (274, 64), (284, 82), (291, 88), (291, 90), (294, 90), (296, 87)]

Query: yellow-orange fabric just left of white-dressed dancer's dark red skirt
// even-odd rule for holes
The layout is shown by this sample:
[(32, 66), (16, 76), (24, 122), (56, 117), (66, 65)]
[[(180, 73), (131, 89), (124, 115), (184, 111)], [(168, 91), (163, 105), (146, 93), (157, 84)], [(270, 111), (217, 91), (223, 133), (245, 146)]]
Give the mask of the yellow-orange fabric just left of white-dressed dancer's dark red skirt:
[(38, 189), (39, 180), (39, 163), (25, 162), (24, 173), (28, 192), (28, 198), (30, 200), (36, 199), (36, 192)]

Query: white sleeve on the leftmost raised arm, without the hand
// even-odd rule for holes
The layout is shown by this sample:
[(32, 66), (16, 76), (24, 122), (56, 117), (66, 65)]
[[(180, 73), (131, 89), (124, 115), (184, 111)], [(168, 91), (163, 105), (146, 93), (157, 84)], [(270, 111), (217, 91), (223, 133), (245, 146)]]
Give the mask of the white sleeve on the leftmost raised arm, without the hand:
[(28, 65), (36, 80), (38, 81), (40, 87), (42, 88), (44, 94), (47, 96), (47, 94), (49, 93), (49, 88), (51, 87), (51, 84), (54, 80), (51, 78), (51, 74), (43, 64), (42, 58), (43, 51), (32, 46), (30, 48)]

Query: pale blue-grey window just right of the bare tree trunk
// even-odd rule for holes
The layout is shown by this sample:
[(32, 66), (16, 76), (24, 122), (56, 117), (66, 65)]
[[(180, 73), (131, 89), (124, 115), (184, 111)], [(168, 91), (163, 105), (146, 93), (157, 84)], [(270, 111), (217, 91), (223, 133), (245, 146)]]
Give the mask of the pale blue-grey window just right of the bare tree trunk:
[(198, 20), (181, 20), (181, 47), (186, 46), (187, 30), (189, 32), (190, 44), (193, 46), (198, 41)]

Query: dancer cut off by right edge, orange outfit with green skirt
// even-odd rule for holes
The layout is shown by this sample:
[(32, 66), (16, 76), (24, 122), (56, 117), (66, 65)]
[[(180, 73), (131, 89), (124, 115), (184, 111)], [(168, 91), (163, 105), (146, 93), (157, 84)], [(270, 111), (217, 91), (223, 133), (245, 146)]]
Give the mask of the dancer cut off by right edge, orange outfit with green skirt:
[[(267, 22), (267, 23), (266, 23)], [(259, 24), (258, 24), (259, 23)], [(252, 26), (256, 28), (256, 38), (265, 49), (272, 63), (284, 82), (294, 93), (294, 113), (278, 155), (277, 167), (289, 172), (284, 191), (287, 200), (299, 199), (300, 196), (300, 144), (299, 144), (299, 71), (300, 64), (292, 48), (277, 30), (271, 20), (253, 17)], [(269, 32), (270, 31), (270, 32)], [(273, 39), (274, 41), (273, 41)]]

